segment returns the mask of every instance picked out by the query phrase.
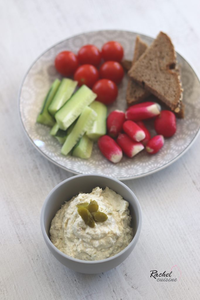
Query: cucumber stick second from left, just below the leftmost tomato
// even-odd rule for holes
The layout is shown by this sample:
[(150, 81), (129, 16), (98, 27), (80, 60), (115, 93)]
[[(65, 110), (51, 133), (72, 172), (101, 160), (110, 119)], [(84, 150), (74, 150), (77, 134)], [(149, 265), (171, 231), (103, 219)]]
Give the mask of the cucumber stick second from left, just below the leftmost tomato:
[(63, 78), (61, 84), (49, 105), (49, 113), (54, 116), (55, 113), (70, 99), (77, 85), (77, 81)]

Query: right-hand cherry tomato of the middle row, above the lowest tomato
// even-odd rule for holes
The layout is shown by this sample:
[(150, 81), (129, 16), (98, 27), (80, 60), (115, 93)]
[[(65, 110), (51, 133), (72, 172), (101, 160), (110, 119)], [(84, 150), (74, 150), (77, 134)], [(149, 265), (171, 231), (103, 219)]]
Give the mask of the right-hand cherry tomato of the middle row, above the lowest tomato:
[(117, 61), (106, 61), (101, 65), (99, 75), (100, 78), (110, 79), (118, 84), (124, 76), (124, 70)]

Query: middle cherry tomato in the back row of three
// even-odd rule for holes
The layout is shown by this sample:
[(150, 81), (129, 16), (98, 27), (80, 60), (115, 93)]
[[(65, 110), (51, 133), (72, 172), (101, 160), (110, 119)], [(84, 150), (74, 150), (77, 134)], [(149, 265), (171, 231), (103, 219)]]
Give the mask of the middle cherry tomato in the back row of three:
[(101, 62), (101, 52), (94, 45), (82, 46), (78, 52), (79, 64), (92, 64), (95, 67)]

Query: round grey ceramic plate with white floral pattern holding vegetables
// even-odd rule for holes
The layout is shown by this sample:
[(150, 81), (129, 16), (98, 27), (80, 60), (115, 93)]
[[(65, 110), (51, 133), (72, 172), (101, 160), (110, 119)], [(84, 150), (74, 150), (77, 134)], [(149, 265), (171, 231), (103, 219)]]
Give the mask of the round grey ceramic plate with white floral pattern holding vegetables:
[[(187, 61), (177, 53), (181, 66), (181, 80), (184, 88), (183, 102), (185, 118), (177, 119), (176, 134), (165, 140), (163, 148), (156, 155), (140, 152), (134, 158), (125, 155), (118, 164), (112, 164), (104, 158), (97, 145), (94, 145), (91, 158), (84, 160), (61, 155), (61, 145), (50, 136), (47, 126), (37, 124), (36, 118), (43, 99), (55, 78), (60, 78), (54, 67), (55, 56), (63, 51), (75, 53), (85, 44), (94, 44), (101, 48), (110, 40), (116, 40), (124, 47), (124, 58), (131, 60), (137, 34), (126, 31), (89, 32), (62, 41), (46, 50), (32, 64), (25, 75), (19, 92), (19, 112), (23, 128), (36, 149), (59, 167), (75, 174), (97, 173), (112, 176), (121, 180), (133, 179), (157, 172), (169, 166), (181, 157), (192, 145), (200, 126), (200, 82), (196, 73)], [(152, 38), (141, 35), (143, 41), (151, 44)], [(109, 111), (126, 109), (127, 76), (119, 85), (119, 94)], [(152, 132), (155, 134), (155, 132)]]

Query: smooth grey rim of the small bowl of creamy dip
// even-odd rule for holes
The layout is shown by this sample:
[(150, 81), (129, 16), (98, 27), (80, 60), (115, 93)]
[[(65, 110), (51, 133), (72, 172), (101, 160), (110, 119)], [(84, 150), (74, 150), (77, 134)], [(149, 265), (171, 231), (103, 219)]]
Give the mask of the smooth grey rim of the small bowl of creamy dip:
[[(111, 179), (113, 180), (114, 182), (116, 182), (117, 184), (119, 185), (122, 185), (123, 187), (125, 187), (125, 189), (127, 189), (129, 191), (129, 193), (132, 194), (133, 196), (133, 199), (135, 201), (135, 204), (136, 204), (136, 208), (138, 210), (138, 226), (137, 226), (137, 230), (136, 230), (136, 233), (132, 239), (132, 241), (130, 242), (130, 244), (128, 244), (127, 247), (125, 247), (123, 250), (121, 250), (119, 253), (111, 256), (111, 257), (108, 257), (108, 258), (105, 258), (105, 259), (99, 259), (99, 260), (83, 260), (83, 259), (77, 259), (77, 258), (74, 258), (74, 257), (71, 257), (65, 253), (63, 253), (62, 251), (60, 251), (57, 247), (55, 247), (55, 245), (52, 243), (52, 241), (50, 240), (49, 236), (47, 235), (46, 233), (46, 230), (45, 230), (45, 227), (44, 227), (44, 212), (46, 210), (46, 206), (48, 205), (48, 201), (49, 201), (49, 197), (52, 195), (52, 193), (54, 193), (55, 190), (57, 190), (61, 185), (65, 184), (65, 182), (69, 182), (71, 180), (76, 180), (76, 178), (78, 177), (90, 177), (90, 176), (96, 176), (96, 177), (103, 177), (103, 178), (107, 178), (107, 179)], [(63, 180), (62, 182), (58, 183), (50, 192), (49, 194), (47, 195), (44, 203), (43, 203), (43, 206), (42, 206), (42, 209), (41, 209), (41, 213), (40, 213), (40, 226), (41, 226), (41, 230), (42, 230), (42, 234), (43, 234), (43, 238), (44, 240), (46, 241), (46, 243), (48, 244), (47, 246), (49, 247), (52, 247), (53, 250), (60, 256), (62, 256), (63, 258), (67, 258), (68, 260), (72, 261), (72, 262), (76, 262), (76, 263), (83, 263), (83, 264), (98, 264), (98, 263), (103, 263), (103, 262), (109, 262), (109, 261), (112, 261), (113, 259), (116, 259), (118, 256), (121, 256), (123, 255), (124, 252), (127, 252), (127, 250), (132, 246), (132, 244), (134, 244), (134, 242), (138, 241), (138, 238), (139, 238), (139, 235), (140, 235), (140, 232), (141, 232), (141, 228), (142, 228), (142, 211), (141, 211), (141, 207), (140, 207), (140, 204), (139, 204), (139, 201), (136, 197), (136, 195), (133, 193), (133, 191), (127, 187), (126, 184), (124, 184), (123, 182), (119, 181), (118, 179), (116, 178), (113, 178), (113, 177), (110, 177), (110, 176), (106, 176), (106, 175), (101, 175), (101, 174), (96, 174), (96, 173), (90, 173), (90, 174), (80, 174), (80, 175), (76, 175), (76, 176), (71, 176), (65, 180)]]

